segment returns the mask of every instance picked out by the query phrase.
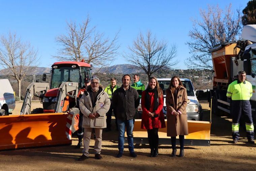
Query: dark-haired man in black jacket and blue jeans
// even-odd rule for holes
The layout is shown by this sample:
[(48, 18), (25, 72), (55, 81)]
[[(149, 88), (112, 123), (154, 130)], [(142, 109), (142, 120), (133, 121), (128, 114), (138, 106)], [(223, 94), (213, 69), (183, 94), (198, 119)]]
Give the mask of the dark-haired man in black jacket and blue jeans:
[(135, 158), (137, 155), (134, 152), (132, 131), (134, 126), (135, 108), (137, 108), (139, 105), (139, 95), (138, 92), (134, 88), (131, 88), (129, 85), (131, 81), (130, 75), (124, 75), (122, 81), (122, 86), (113, 93), (112, 97), (113, 108), (116, 112), (119, 131), (119, 152), (117, 158), (121, 158), (123, 156), (125, 128), (130, 156)]

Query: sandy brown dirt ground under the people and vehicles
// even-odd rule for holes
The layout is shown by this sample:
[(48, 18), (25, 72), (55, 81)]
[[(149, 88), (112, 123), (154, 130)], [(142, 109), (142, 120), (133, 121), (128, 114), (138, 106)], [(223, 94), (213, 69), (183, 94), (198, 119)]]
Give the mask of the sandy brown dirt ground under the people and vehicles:
[[(203, 118), (209, 121), (208, 103), (201, 101), (201, 104)], [(32, 104), (33, 108), (40, 105), (39, 102)], [(21, 106), (22, 103), (17, 103), (13, 114), (19, 113)], [(240, 131), (241, 140), (231, 144), (231, 119), (226, 116), (212, 116), (211, 146), (185, 146), (183, 158), (170, 157), (170, 145), (160, 145), (159, 156), (150, 158), (148, 144), (135, 145), (137, 158), (129, 157), (125, 144), (124, 156), (115, 158), (118, 134), (112, 125), (113, 131), (102, 134), (102, 160), (94, 159), (92, 139), (90, 159), (78, 162), (82, 148), (75, 149), (77, 138), (73, 138), (69, 146), (0, 151), (0, 170), (256, 170), (256, 145), (247, 143), (245, 130)]]

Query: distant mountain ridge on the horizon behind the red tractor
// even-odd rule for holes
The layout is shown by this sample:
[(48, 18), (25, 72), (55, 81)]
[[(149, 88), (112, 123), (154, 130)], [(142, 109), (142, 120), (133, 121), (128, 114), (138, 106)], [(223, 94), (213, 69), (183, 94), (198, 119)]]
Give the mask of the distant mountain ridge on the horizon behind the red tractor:
[[(50, 73), (51, 68), (46, 67), (30, 67), (27, 75), (42, 75), (43, 73)], [(143, 70), (136, 69), (135, 65), (131, 64), (121, 64), (121, 65), (113, 65), (110, 67), (103, 68), (95, 68), (93, 67), (91, 72), (102, 72), (102, 73), (111, 73), (111, 74), (131, 74), (131, 73), (141, 73)], [(0, 70), (0, 75), (9, 75), (9, 69)]]

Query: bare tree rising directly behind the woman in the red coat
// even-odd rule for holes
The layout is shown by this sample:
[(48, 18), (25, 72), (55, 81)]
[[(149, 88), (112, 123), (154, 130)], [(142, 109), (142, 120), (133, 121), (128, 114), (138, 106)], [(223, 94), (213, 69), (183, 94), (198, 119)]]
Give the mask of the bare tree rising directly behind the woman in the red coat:
[(132, 47), (128, 48), (130, 54), (124, 55), (124, 58), (137, 69), (145, 71), (148, 79), (160, 69), (170, 68), (178, 63), (173, 61), (177, 55), (177, 47), (172, 45), (169, 49), (166, 41), (157, 40), (150, 31), (145, 36), (140, 32), (137, 39), (133, 40)]

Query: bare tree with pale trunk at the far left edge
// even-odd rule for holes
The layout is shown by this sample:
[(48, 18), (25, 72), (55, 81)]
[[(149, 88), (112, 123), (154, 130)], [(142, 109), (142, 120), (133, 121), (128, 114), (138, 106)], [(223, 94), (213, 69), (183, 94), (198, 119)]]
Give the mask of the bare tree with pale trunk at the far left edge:
[(37, 50), (18, 38), (15, 33), (1, 36), (0, 64), (7, 68), (8, 73), (18, 82), (18, 96), (21, 97), (21, 81), (30, 66), (38, 61)]

